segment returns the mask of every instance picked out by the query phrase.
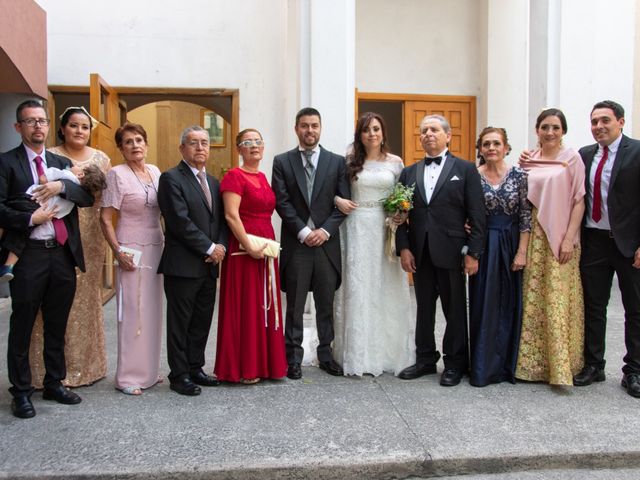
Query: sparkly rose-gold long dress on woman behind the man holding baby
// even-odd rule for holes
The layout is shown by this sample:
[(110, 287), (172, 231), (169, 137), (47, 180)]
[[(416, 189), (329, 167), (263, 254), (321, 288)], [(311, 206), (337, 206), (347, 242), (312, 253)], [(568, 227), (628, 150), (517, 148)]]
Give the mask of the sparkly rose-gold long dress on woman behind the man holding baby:
[[(53, 147), (50, 151), (69, 158), (64, 148)], [(100, 150), (94, 150), (88, 160), (70, 160), (81, 167), (96, 164), (105, 173), (111, 168), (111, 160)], [(86, 272), (76, 269), (76, 295), (65, 334), (67, 377), (62, 383), (68, 387), (90, 385), (107, 374), (102, 313), (102, 268), (106, 241), (100, 230), (100, 199), (97, 198), (92, 207), (79, 208), (78, 217)], [(38, 313), (29, 351), (31, 382), (35, 388), (42, 388), (45, 374), (43, 345), (42, 315)]]

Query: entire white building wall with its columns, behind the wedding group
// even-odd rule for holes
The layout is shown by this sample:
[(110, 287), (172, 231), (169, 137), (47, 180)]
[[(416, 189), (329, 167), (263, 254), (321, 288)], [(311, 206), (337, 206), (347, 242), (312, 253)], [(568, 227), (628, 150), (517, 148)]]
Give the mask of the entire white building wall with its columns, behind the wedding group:
[(352, 84), (475, 95), (478, 128), (502, 124), (516, 149), (534, 141), (550, 103), (567, 114), (570, 145), (591, 142), (589, 110), (604, 98), (625, 106), (633, 128), (636, 0), (535, 0), (547, 5), (542, 26), (530, 23), (540, 20), (530, 0), (37, 1), (51, 84), (86, 85), (96, 71), (112, 85), (238, 88), (240, 127), (262, 130), (267, 172), (295, 144), (307, 101), (323, 114), (323, 144), (344, 147)]

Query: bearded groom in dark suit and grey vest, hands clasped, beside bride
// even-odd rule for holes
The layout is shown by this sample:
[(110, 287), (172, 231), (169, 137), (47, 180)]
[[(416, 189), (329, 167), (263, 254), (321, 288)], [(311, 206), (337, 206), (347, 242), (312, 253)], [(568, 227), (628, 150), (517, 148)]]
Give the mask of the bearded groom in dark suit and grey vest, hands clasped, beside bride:
[(276, 210), (282, 218), (281, 288), (287, 294), (285, 343), (291, 379), (302, 377), (302, 317), (307, 292), (313, 292), (320, 368), (343, 375), (331, 353), (333, 298), (340, 286), (340, 232), (344, 214), (335, 196), (350, 198), (344, 157), (319, 145), (322, 123), (314, 108), (296, 115), (299, 146), (273, 160)]

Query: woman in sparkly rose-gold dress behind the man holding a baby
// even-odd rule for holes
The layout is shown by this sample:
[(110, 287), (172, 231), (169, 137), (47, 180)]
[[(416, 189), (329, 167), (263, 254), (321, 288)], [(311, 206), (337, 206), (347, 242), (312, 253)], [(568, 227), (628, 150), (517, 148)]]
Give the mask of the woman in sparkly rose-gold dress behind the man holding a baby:
[[(51, 151), (67, 157), (74, 165), (98, 165), (106, 174), (111, 160), (102, 151), (88, 146), (96, 120), (84, 107), (69, 107), (60, 116), (58, 138), (62, 144)], [(78, 272), (76, 295), (69, 314), (65, 335), (68, 387), (90, 385), (107, 374), (107, 354), (104, 343), (102, 313), (102, 268), (106, 242), (100, 230), (100, 199), (92, 207), (80, 208), (80, 237), (86, 272)], [(29, 352), (33, 385), (42, 388), (44, 378), (42, 317), (39, 314), (31, 337)]]

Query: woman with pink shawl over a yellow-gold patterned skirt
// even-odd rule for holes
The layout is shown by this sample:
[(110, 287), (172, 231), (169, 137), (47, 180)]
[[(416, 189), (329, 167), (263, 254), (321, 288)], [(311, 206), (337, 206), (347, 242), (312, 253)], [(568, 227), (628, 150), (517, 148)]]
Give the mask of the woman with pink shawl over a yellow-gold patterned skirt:
[(534, 208), (516, 378), (573, 385), (573, 375), (583, 364), (579, 260), (584, 164), (577, 151), (562, 146), (567, 133), (562, 111), (542, 111), (536, 133), (540, 148), (522, 163)]

